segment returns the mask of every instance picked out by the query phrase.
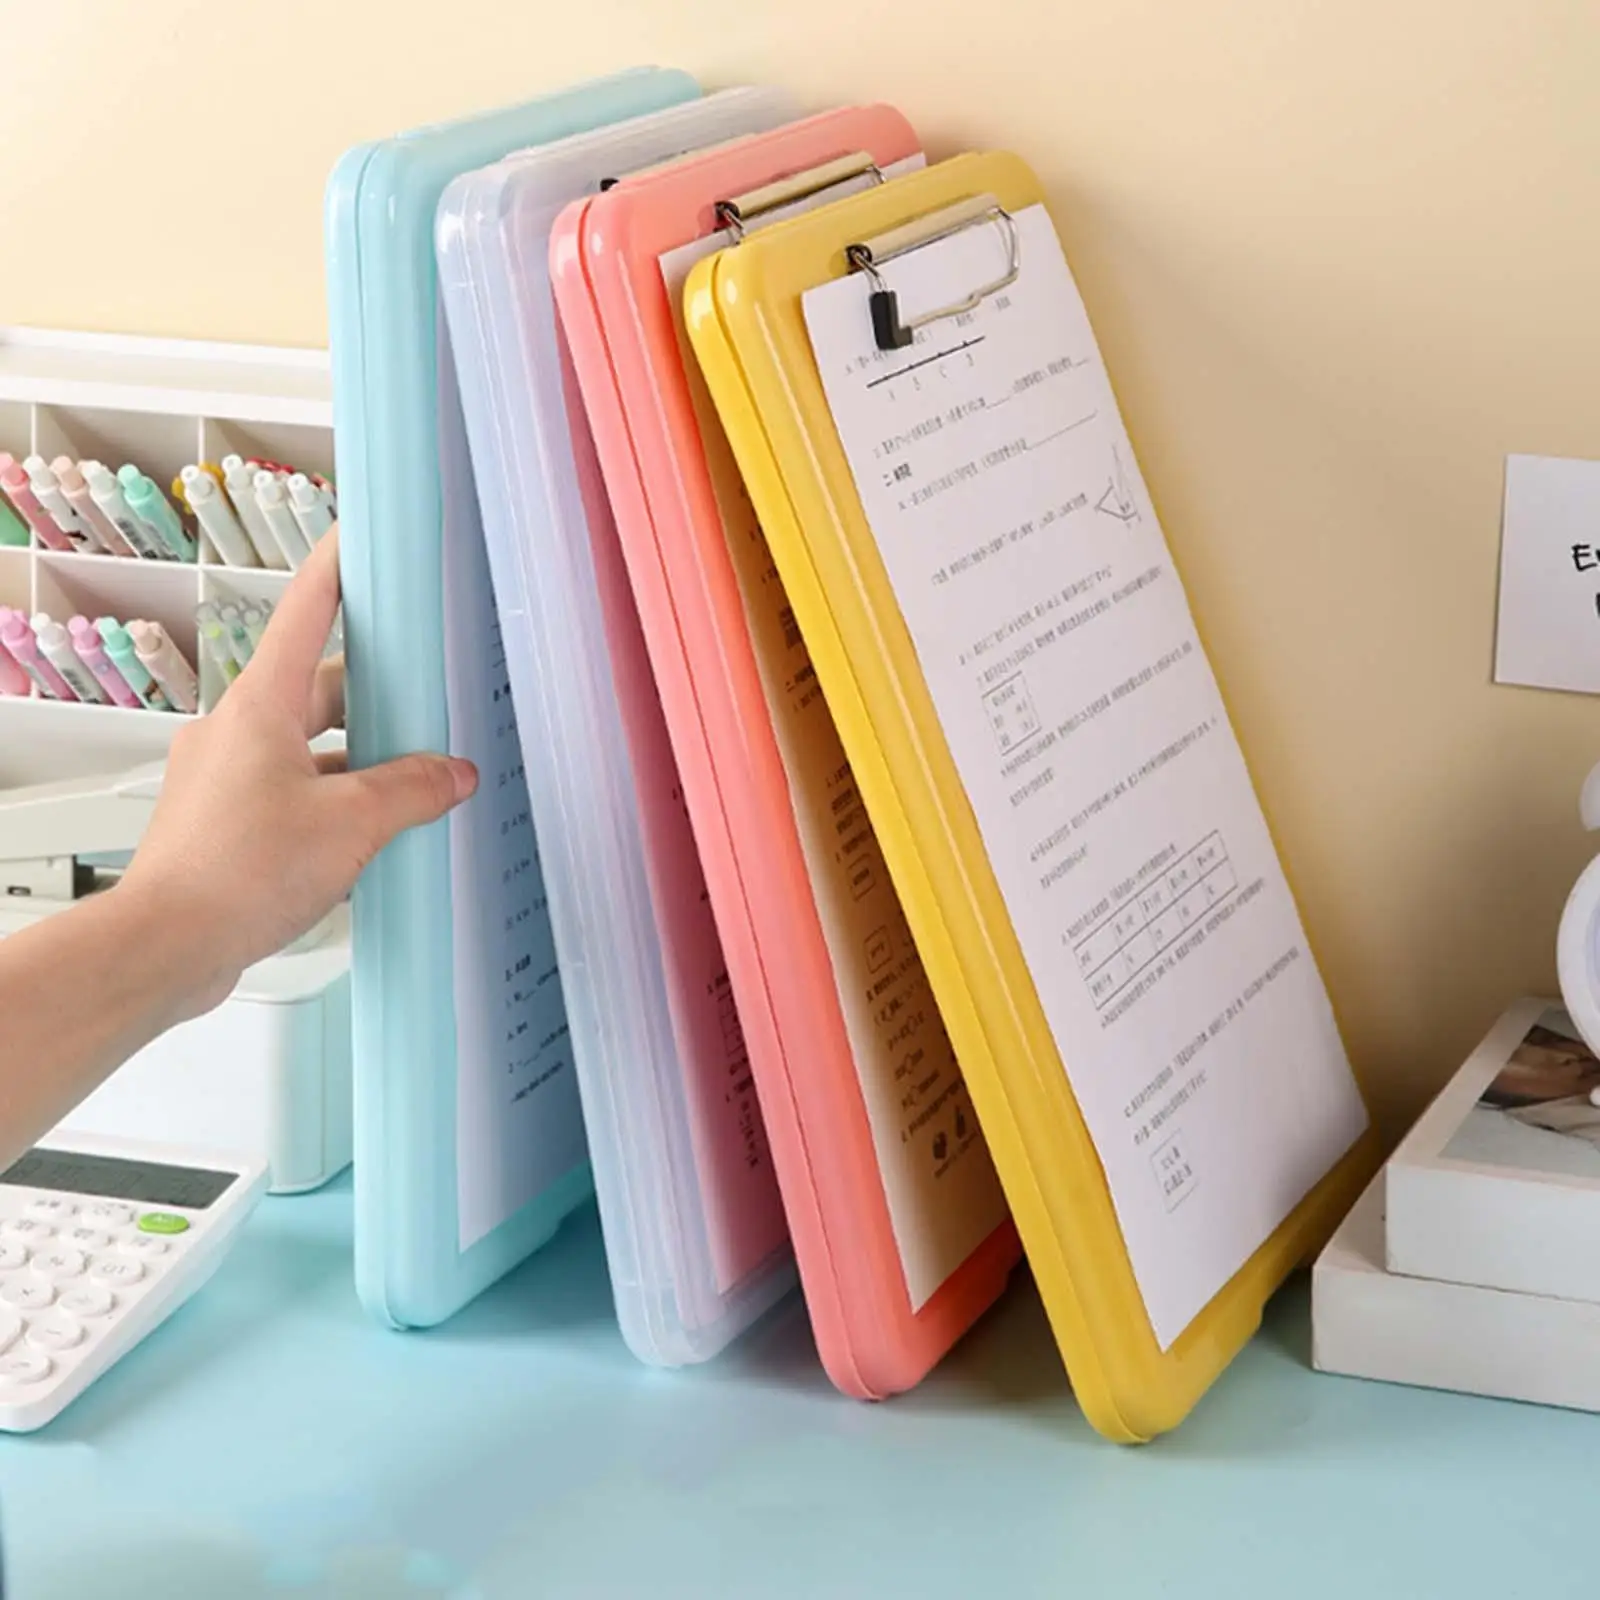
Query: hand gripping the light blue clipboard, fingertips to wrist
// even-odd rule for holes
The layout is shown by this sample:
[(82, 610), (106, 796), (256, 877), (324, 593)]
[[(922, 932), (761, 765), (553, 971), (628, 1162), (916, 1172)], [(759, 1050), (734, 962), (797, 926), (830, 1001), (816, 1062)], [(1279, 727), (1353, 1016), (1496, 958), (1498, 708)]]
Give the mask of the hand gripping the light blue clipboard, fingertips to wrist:
[(397, 834), (477, 789), (470, 762), (405, 755), (346, 771), (309, 741), (336, 726), (344, 662), (323, 661), (339, 608), (339, 530), (317, 542), (221, 704), (173, 741), (144, 840), (114, 891), (187, 950), (194, 1014), (314, 928)]

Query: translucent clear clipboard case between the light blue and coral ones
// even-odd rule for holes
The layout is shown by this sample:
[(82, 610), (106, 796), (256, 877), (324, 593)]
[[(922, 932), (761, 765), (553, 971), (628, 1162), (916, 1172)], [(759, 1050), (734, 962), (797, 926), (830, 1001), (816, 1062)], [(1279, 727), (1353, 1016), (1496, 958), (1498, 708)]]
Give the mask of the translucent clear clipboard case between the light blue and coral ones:
[[(618, 1317), (656, 1365), (715, 1355), (795, 1272), (742, 1042), (715, 1030), (731, 990), (710, 992), (726, 970), (566, 368), (549, 240), (608, 178), (789, 115), (776, 91), (730, 90), (518, 152), (456, 179), (437, 222)], [(696, 1099), (696, 1085), (715, 1093)]]

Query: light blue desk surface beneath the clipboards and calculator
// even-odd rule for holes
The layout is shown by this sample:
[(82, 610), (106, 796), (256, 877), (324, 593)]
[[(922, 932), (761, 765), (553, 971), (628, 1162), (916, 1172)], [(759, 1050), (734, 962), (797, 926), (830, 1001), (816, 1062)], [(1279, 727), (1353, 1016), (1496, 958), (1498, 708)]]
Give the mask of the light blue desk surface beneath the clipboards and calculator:
[(1600, 1418), (1320, 1378), (1307, 1301), (1174, 1437), (1096, 1440), (1029, 1285), (923, 1387), (835, 1395), (790, 1307), (653, 1373), (594, 1219), (450, 1326), (350, 1288), (350, 1195), (269, 1200), (213, 1283), (0, 1440), (8, 1600), (1202, 1600), (1594, 1594)]

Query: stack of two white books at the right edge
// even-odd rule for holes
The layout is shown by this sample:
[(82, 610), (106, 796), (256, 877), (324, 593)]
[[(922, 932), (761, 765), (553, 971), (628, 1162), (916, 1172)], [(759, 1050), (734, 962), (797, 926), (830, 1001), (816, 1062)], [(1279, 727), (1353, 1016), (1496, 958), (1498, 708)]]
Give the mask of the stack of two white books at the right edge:
[(1522, 1000), (1312, 1275), (1320, 1371), (1600, 1411), (1600, 1061)]

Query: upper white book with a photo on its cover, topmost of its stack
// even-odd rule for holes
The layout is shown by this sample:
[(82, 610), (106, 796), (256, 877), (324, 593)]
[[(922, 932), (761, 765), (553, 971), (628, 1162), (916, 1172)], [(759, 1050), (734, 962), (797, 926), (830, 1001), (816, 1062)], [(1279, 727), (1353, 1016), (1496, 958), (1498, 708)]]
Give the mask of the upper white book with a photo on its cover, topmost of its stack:
[(1520, 1000), (1387, 1166), (1390, 1272), (1600, 1302), (1600, 1061)]

